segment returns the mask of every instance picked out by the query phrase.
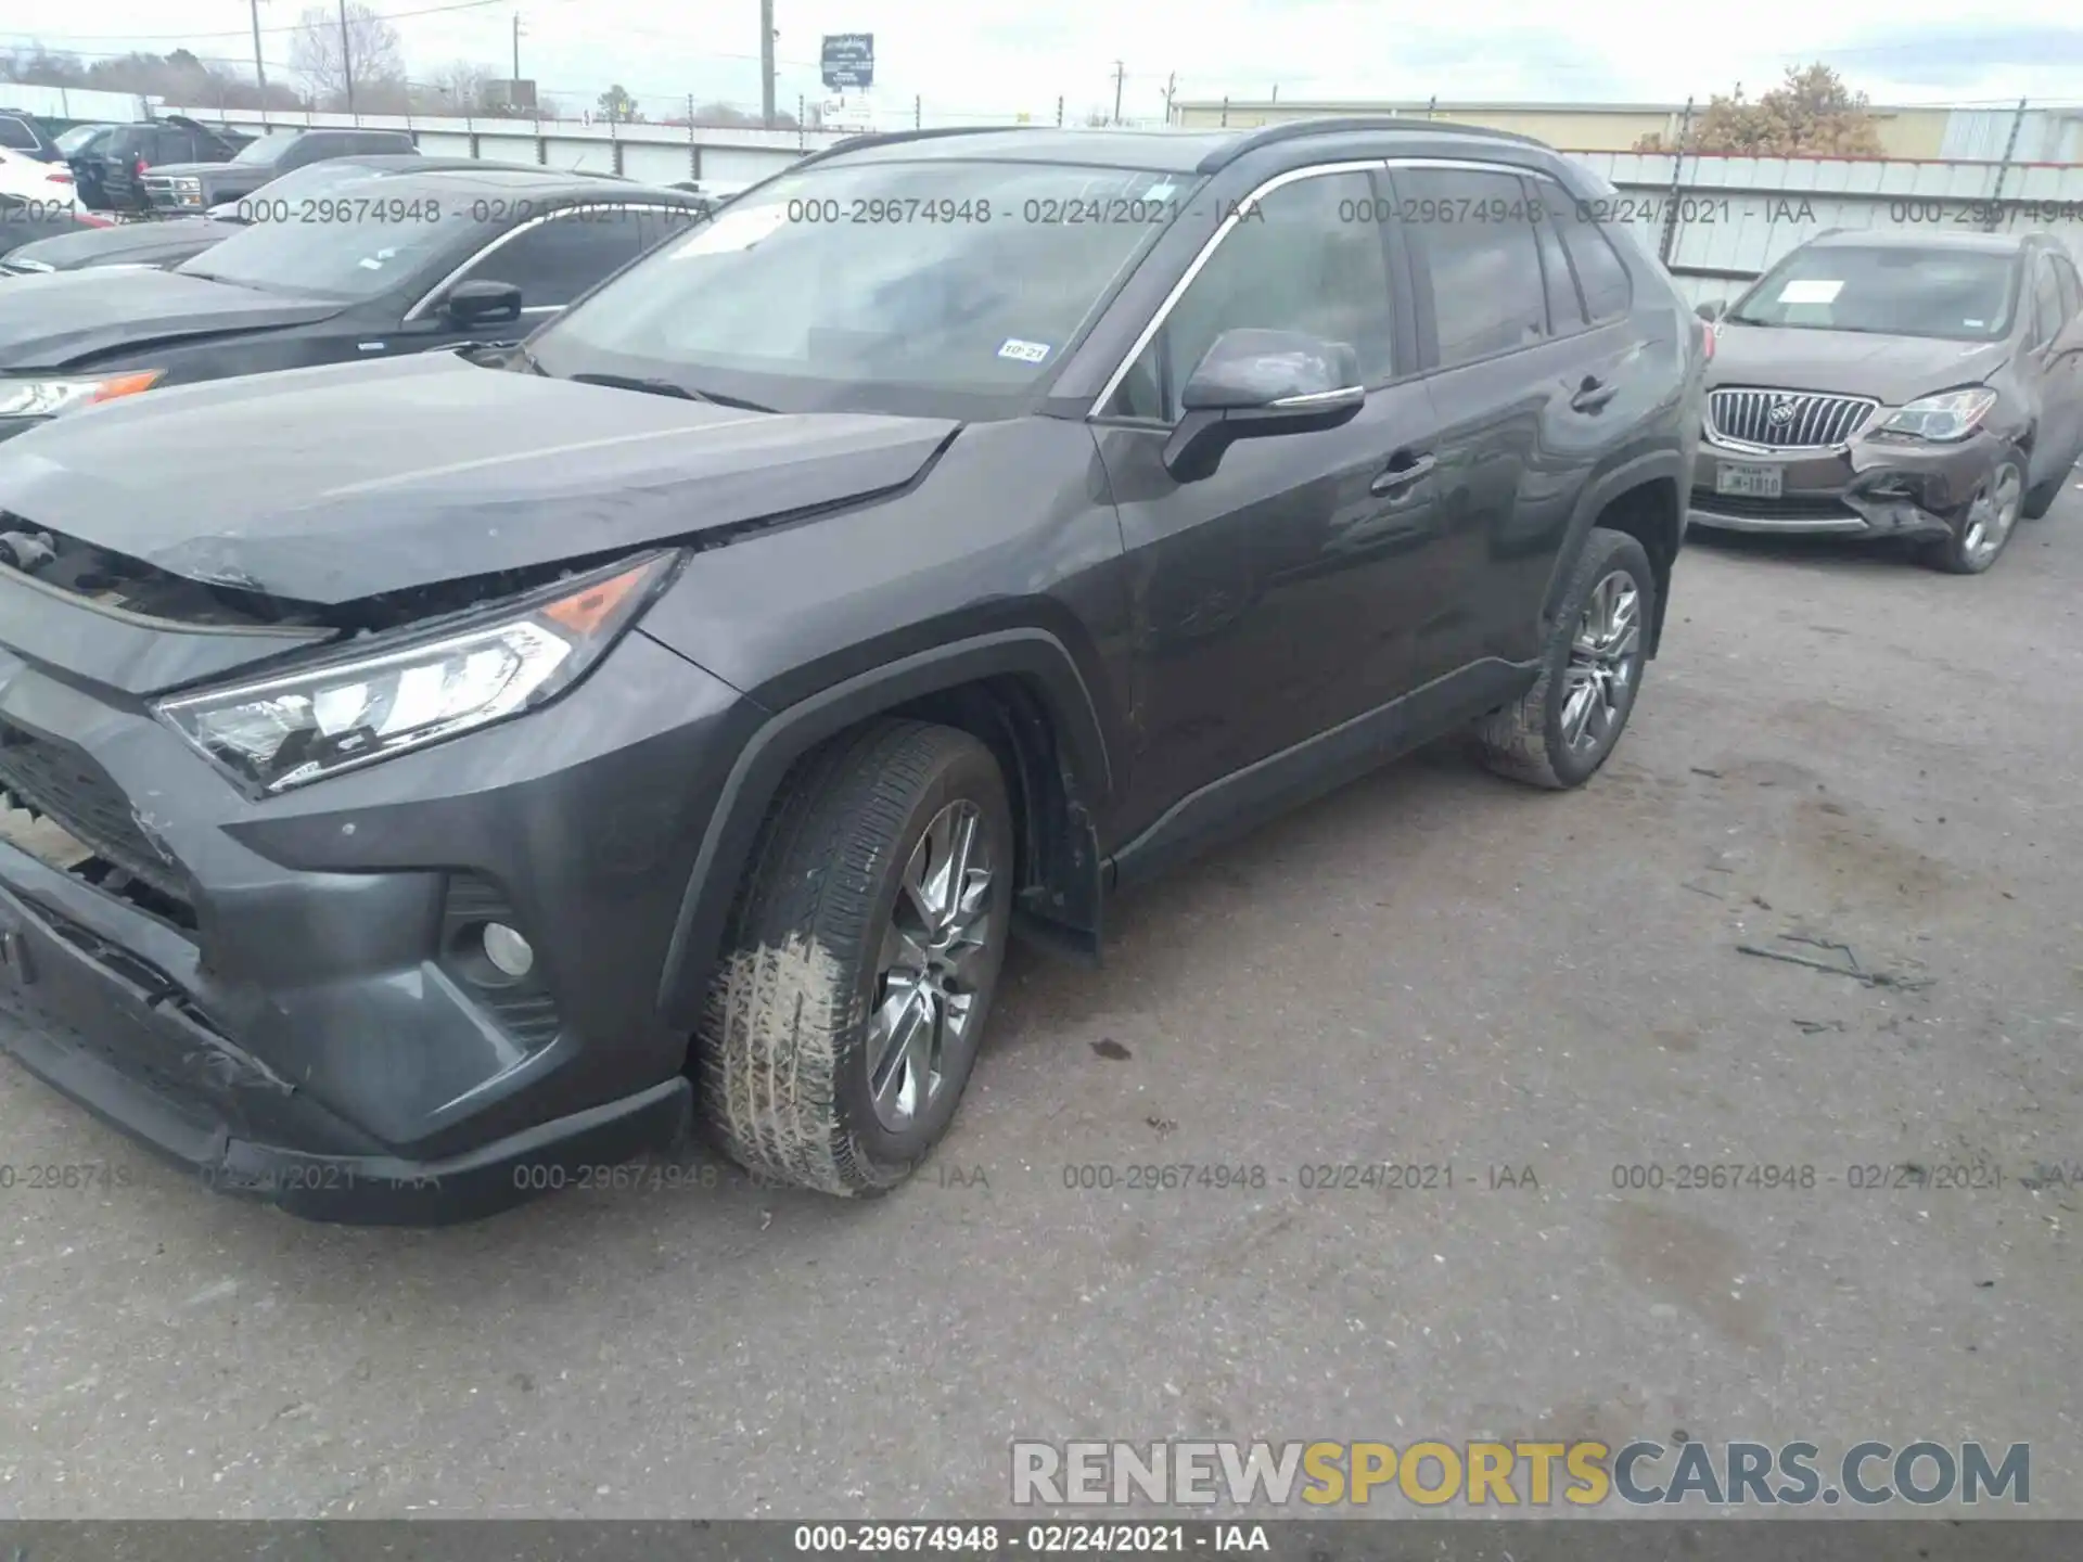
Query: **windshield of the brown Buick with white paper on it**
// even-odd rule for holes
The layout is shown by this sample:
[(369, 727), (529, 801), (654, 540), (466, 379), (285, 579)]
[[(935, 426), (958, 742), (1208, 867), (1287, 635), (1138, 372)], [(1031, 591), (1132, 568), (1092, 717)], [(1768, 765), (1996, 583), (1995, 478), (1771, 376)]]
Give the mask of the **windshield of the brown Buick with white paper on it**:
[(2016, 260), (2008, 254), (1825, 244), (1773, 267), (1729, 319), (1996, 342), (2010, 329), (2014, 289)]

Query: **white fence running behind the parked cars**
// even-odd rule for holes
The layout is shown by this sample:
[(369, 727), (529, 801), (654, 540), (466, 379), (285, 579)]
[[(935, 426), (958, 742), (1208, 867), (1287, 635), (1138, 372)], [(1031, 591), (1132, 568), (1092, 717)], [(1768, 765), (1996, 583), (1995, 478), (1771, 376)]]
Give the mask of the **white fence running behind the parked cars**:
[[(681, 125), (587, 125), (527, 119), (423, 119), (283, 115), (181, 108), (244, 131), (287, 133), (310, 125), (410, 131), (431, 156), (542, 162), (623, 173), (648, 183), (735, 185), (779, 173), (806, 152), (844, 140), (835, 131), (769, 131)], [(1731, 298), (1802, 240), (1829, 227), (1923, 227), (1987, 231), (2043, 227), (2083, 262), (2083, 165), (1862, 158), (1648, 156), (1573, 152), (1618, 192), (1608, 221), (1627, 223), (1662, 256), (1689, 302)]]

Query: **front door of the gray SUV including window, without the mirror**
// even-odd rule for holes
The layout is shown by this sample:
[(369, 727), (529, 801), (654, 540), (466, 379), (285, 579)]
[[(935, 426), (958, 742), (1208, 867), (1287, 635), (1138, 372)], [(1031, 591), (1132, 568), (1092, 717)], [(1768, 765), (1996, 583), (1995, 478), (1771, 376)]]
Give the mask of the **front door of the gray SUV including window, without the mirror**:
[[(1431, 400), (1398, 329), (1369, 167), (1306, 169), (1246, 202), (1094, 431), (1127, 548), (1137, 756), (1119, 827), (1408, 691), (1412, 596), (1439, 529)], [(1408, 314), (1404, 317), (1408, 319)], [(1223, 331), (1346, 342), (1369, 398), (1337, 429), (1244, 439), (1210, 477), (1162, 462)]]

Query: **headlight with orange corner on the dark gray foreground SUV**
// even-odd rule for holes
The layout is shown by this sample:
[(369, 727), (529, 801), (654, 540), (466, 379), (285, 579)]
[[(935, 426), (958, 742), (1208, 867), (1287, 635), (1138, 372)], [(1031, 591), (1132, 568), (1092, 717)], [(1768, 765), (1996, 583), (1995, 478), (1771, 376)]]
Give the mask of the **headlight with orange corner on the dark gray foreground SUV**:
[(158, 714), (242, 787), (287, 791), (554, 700), (635, 621), (677, 558), (558, 581), (494, 623), (375, 656), (162, 700)]

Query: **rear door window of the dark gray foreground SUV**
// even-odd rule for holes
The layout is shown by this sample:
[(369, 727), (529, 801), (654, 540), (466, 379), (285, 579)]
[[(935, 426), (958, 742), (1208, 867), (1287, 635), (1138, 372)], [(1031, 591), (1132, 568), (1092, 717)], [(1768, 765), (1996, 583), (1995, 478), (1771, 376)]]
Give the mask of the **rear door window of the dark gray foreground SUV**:
[(1537, 223), (1516, 173), (1398, 169), (1396, 210), (1439, 369), (1548, 339)]

